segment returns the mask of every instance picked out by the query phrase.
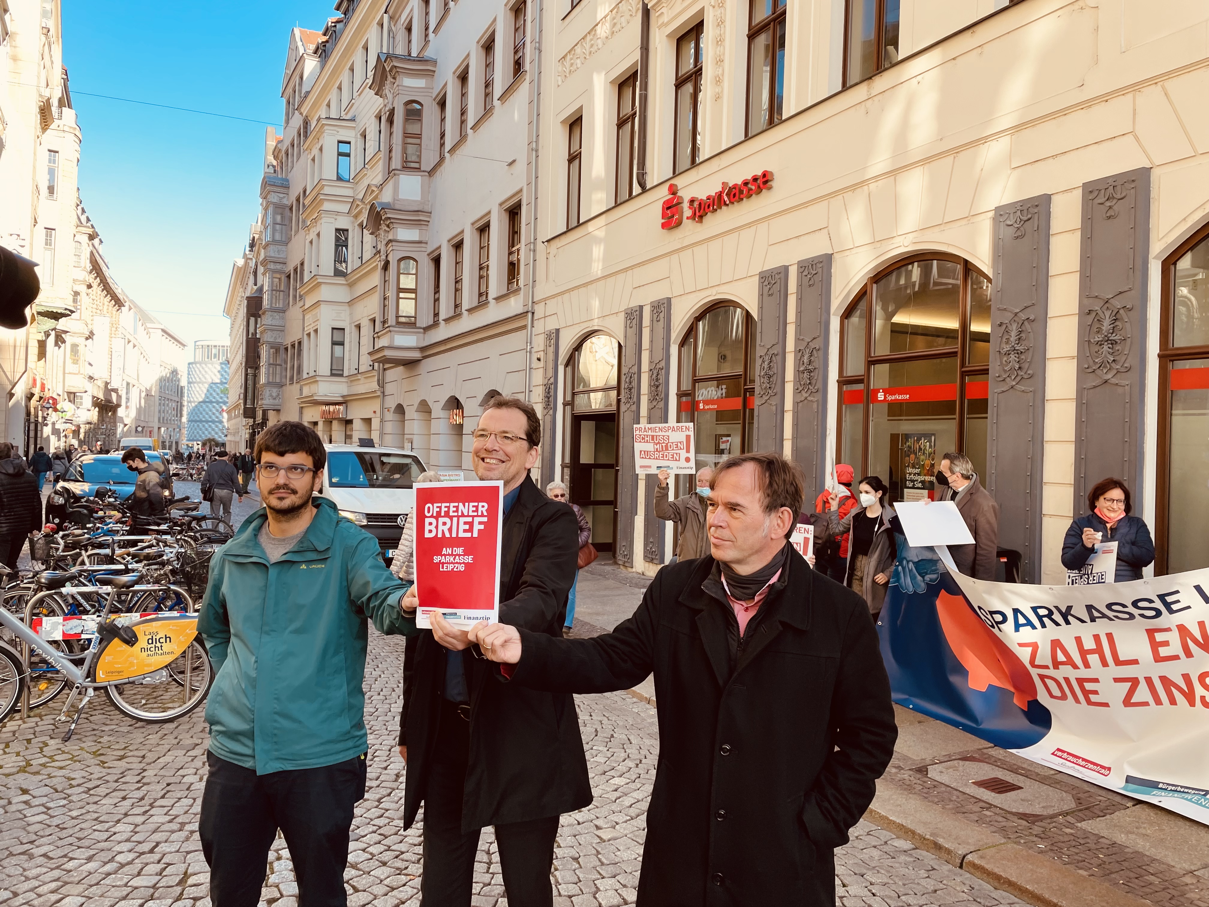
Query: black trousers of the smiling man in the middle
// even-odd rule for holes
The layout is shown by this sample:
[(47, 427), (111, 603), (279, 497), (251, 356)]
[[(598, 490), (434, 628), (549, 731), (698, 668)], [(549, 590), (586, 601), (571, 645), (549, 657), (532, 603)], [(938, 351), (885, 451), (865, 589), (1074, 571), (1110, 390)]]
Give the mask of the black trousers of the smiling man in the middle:
[[(462, 832), (462, 792), (470, 750), (470, 722), (441, 700), (433, 770), (424, 791), (424, 907), (469, 907), (479, 828)], [(551, 907), (550, 868), (559, 816), (496, 826), (496, 845), (508, 903)], [(214, 907), (224, 907), (215, 903)]]

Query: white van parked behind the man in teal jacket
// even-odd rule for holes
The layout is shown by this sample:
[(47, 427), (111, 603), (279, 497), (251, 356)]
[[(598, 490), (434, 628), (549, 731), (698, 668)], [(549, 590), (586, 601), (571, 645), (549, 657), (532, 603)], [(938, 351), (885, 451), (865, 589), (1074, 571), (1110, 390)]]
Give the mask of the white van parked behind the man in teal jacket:
[(410, 450), (325, 444), (322, 497), (378, 541), (389, 560), (416, 504), (412, 483), (427, 468)]

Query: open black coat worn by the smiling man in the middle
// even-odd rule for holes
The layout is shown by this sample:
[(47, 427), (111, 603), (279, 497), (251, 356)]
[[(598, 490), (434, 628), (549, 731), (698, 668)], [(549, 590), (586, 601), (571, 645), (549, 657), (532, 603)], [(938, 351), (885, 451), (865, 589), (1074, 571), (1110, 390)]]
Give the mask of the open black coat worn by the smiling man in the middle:
[[(579, 525), (569, 504), (551, 501), (526, 478), (504, 516), (499, 620), (534, 635), (562, 637), (575, 580)], [(423, 589), (420, 590), (423, 597)], [(407, 647), (399, 743), (407, 745), (404, 827), (424, 799), (445, 684), (445, 649), (429, 630)], [(493, 663), (463, 652), (470, 691), (470, 756), (462, 830), (523, 822), (592, 802), (579, 717), (569, 693), (499, 683)], [(461, 718), (457, 718), (462, 721)]]

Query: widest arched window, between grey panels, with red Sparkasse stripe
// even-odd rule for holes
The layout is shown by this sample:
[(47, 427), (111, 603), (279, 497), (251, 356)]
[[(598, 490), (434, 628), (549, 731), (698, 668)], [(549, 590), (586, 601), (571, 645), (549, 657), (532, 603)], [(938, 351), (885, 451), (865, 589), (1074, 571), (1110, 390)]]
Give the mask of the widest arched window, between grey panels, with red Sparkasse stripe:
[(881, 478), (891, 501), (935, 497), (948, 451), (985, 473), (985, 275), (935, 253), (880, 271), (844, 316), (839, 358), (837, 463)]

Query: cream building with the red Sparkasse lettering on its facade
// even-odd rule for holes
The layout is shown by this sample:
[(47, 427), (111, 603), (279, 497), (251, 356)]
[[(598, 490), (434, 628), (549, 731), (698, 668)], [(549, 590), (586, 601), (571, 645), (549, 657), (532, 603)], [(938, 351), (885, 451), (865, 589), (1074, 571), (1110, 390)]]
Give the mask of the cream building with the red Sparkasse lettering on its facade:
[(666, 559), (629, 441), (679, 420), (810, 499), (964, 450), (1029, 582), (1107, 475), (1156, 573), (1209, 565), (1205, 4), (556, 0), (543, 35), (531, 392), (597, 548)]

